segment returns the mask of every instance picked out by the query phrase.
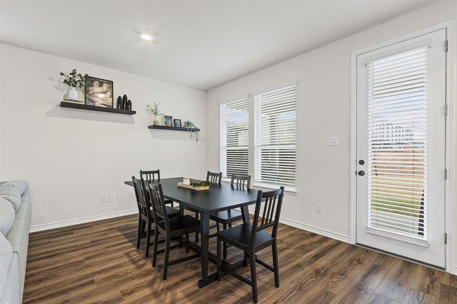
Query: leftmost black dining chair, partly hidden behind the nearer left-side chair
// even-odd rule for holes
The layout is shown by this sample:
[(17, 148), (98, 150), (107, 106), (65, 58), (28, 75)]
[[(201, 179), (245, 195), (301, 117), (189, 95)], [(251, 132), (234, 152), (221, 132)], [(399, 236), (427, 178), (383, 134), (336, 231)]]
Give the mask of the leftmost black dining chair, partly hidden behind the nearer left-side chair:
[[(149, 194), (146, 193), (145, 181), (143, 178), (137, 179), (132, 176), (133, 188), (135, 190), (136, 205), (138, 207), (138, 232), (136, 236), (136, 249), (139, 248), (140, 240), (146, 237), (146, 253), (145, 257), (149, 256), (149, 246), (151, 246), (151, 231), (154, 223), (154, 215), (151, 210), (151, 202)], [(177, 217), (180, 211), (170, 206), (166, 207), (166, 212), (169, 217)], [(146, 229), (146, 234), (145, 234)]]

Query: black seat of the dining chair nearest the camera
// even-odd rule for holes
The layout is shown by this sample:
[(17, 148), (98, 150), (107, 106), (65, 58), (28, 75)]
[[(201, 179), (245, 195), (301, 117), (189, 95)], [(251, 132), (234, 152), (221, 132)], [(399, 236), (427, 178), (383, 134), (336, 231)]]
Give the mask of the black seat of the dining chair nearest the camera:
[[(224, 241), (229, 241), (236, 247), (236, 243), (243, 245), (243, 247), (248, 247), (251, 243), (251, 233), (252, 233), (252, 225), (248, 223), (243, 223), (234, 227), (231, 227), (226, 230), (222, 230), (217, 233), (218, 237)], [(268, 241), (271, 241), (272, 237), (271, 234), (261, 230), (256, 233), (256, 240), (255, 246), (261, 245)], [(230, 242), (232, 241), (232, 242)]]

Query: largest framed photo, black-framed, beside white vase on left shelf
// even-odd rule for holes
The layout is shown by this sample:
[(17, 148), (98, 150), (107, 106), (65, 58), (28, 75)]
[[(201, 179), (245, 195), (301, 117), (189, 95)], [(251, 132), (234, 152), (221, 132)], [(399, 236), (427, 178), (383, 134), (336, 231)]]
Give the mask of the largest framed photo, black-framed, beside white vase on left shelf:
[(86, 77), (86, 104), (113, 107), (113, 82), (95, 77)]

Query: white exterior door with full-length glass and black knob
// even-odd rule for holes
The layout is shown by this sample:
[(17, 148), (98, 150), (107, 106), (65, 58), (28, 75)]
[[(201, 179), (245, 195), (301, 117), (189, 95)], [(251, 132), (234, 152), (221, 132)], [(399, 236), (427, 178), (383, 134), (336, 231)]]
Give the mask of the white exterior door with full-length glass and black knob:
[(446, 30), (357, 57), (358, 244), (445, 267)]

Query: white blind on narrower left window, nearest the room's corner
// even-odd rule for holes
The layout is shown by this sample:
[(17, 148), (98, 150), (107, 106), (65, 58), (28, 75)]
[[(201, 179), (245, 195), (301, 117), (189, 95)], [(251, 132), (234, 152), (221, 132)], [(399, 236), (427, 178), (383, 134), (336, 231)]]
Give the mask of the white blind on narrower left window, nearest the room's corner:
[(249, 98), (221, 104), (222, 176), (248, 175)]

